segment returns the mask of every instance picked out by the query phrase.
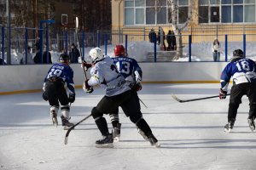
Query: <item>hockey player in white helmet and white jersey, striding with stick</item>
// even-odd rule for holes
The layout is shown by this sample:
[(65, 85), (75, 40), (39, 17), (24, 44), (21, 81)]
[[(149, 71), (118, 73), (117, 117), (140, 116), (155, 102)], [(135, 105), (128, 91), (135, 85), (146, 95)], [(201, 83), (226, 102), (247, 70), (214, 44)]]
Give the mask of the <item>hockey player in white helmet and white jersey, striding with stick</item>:
[(101, 48), (90, 50), (92, 68), (90, 79), (85, 80), (83, 89), (87, 93), (93, 91), (93, 86), (100, 85), (105, 88), (105, 95), (91, 110), (96, 126), (102, 133), (102, 139), (96, 140), (96, 147), (113, 147), (113, 134), (108, 132), (108, 124), (103, 114), (113, 112), (119, 106), (130, 117), (131, 122), (142, 129), (148, 137), (150, 144), (160, 146), (154, 137), (148, 123), (143, 119), (137, 95), (131, 91), (130, 83), (125, 81), (108, 55), (104, 56)]

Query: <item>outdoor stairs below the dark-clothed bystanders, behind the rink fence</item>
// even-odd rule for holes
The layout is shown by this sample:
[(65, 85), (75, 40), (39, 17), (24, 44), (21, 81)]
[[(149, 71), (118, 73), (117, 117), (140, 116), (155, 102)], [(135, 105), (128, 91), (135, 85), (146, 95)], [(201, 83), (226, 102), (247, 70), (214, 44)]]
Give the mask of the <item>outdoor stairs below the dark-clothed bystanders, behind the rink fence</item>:
[[(156, 62), (172, 61), (175, 57), (176, 51), (157, 51)], [(148, 52), (147, 58), (143, 62), (154, 62), (154, 52)]]

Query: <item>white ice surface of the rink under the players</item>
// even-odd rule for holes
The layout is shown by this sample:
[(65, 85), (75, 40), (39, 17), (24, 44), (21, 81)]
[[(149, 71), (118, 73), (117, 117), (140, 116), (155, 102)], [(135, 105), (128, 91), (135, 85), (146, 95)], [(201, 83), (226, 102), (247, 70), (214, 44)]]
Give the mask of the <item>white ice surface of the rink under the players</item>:
[[(224, 133), (229, 97), (178, 103), (218, 95), (219, 84), (143, 84), (139, 92), (143, 117), (159, 143), (152, 147), (120, 112), (119, 143), (113, 149), (95, 147), (101, 134), (92, 117), (69, 134), (49, 119), (49, 105), (41, 93), (0, 96), (0, 169), (13, 170), (254, 170), (256, 138), (247, 125), (248, 101), (236, 116), (232, 133)], [(102, 98), (77, 89), (70, 122), (79, 122)], [(60, 119), (59, 111), (59, 122)], [(109, 116), (105, 116), (111, 130)]]

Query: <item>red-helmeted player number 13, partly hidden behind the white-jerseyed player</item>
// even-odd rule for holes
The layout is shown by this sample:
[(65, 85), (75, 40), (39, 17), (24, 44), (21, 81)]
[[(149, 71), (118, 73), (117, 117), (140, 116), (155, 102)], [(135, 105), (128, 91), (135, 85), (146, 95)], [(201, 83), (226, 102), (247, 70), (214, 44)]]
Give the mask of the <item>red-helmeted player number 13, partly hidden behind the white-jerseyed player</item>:
[[(142, 89), (142, 77), (143, 71), (141, 67), (137, 64), (136, 59), (131, 59), (127, 57), (127, 53), (123, 45), (116, 45), (114, 48), (113, 63), (117, 66), (118, 71), (123, 77), (125, 77), (126, 82), (130, 83), (132, 92), (137, 96), (137, 91)], [(137, 97), (137, 100), (138, 97)], [(116, 108), (112, 113), (109, 113), (112, 125), (113, 125), (113, 139), (119, 141), (121, 123), (119, 123), (119, 108)], [(147, 139), (142, 131), (138, 129), (139, 133), (143, 135), (144, 139)]]

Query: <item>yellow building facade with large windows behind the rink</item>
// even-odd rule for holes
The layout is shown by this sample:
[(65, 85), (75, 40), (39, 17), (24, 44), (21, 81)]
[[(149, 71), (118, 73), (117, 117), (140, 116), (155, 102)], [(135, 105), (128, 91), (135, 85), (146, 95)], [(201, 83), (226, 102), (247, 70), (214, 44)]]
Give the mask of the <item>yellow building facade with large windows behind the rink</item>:
[[(183, 34), (255, 34), (255, 0), (173, 0), (177, 23), (182, 26), (192, 18)], [(112, 28), (124, 31), (135, 28), (172, 30), (171, 0), (113, 0)]]

